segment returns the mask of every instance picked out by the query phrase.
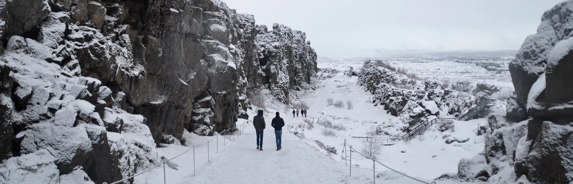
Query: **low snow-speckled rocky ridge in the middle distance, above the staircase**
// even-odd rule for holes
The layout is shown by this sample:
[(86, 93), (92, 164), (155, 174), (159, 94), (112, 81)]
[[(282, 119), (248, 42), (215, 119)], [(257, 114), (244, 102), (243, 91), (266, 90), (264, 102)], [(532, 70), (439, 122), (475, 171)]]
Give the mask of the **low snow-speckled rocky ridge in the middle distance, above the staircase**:
[[(409, 79), (377, 67), (374, 61), (365, 61), (358, 77), (359, 85), (374, 94), (375, 105), (382, 105), (392, 115), (403, 117), (410, 126), (426, 121), (428, 115), (460, 117), (478, 102), (489, 98), (482, 92), (470, 95), (447, 88), (435, 79)], [(429, 102), (434, 104), (427, 106)]]

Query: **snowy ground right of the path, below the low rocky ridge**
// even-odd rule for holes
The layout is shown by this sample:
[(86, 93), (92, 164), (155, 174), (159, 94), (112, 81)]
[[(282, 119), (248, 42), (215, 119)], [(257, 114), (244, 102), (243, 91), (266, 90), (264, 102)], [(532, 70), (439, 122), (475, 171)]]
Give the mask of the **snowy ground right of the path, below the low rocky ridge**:
[[(391, 123), (388, 119), (395, 118), (387, 114), (382, 107), (375, 107), (372, 103), (367, 103), (371, 94), (357, 86), (356, 80), (356, 77), (348, 78), (342, 74), (337, 74), (333, 78), (321, 81), (320, 86), (323, 86), (321, 89), (315, 93), (307, 91), (308, 94), (304, 94), (306, 98), (300, 100), (311, 106), (308, 115), (315, 117), (315, 122), (319, 118), (329, 119), (332, 123), (347, 127), (346, 131), (336, 131), (336, 137), (326, 137), (321, 134), (324, 127), (317, 125), (317, 123), (314, 123), (315, 127), (312, 130), (308, 130), (308, 128), (303, 130), (305, 141), (324, 154), (327, 154), (327, 151), (321, 150), (315, 140), (324, 143), (324, 145), (336, 147), (339, 155), (344, 147), (344, 139), (356, 150), (359, 150), (363, 140), (352, 137), (366, 137), (370, 126), (378, 125), (378, 123)], [(354, 109), (327, 106), (328, 98), (333, 98), (335, 101), (352, 101)], [(290, 118), (286, 119), (286, 122), (297, 125), (303, 123), (303, 119)], [(467, 122), (456, 121), (454, 122), (454, 132), (448, 130), (442, 133), (433, 129), (421, 139), (414, 139), (410, 143), (398, 142), (395, 145), (384, 146), (383, 153), (378, 157), (378, 160), (393, 167), (393, 169), (419, 178), (433, 179), (444, 173), (456, 173), (458, 161), (461, 158), (472, 158), (484, 149), (483, 137), (477, 136), (476, 133), (478, 126), (486, 125), (486, 123), (485, 119), (474, 119)], [(398, 131), (396, 130), (395, 133)], [(445, 143), (446, 139), (453, 138), (468, 139), (468, 141)], [(333, 160), (343, 162), (343, 158), (339, 155), (330, 155)], [(353, 165), (358, 164), (364, 169), (372, 169), (370, 159), (359, 155), (354, 155), (352, 159)], [(386, 170), (379, 165), (376, 168), (380, 171)]]

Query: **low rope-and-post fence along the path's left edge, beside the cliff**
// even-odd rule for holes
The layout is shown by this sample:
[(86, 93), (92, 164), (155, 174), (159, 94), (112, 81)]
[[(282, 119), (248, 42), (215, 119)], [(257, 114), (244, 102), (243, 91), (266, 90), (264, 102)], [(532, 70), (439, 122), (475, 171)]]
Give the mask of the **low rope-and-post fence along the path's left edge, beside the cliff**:
[[(238, 133), (239, 133), (239, 134), (231, 134), (231, 137), (229, 138), (229, 141), (233, 141), (233, 140), (235, 139), (235, 137), (238, 138), (238, 136), (242, 134), (242, 132), (245, 130), (245, 127), (246, 127), (246, 124), (245, 124), (245, 123), (242, 123), (242, 124), (239, 125), (239, 126), (235, 125), (235, 127), (231, 128), (231, 129), (227, 129), (227, 130), (223, 130), (223, 131), (221, 131), (221, 132), (218, 132), (212, 139), (210, 139), (209, 141), (203, 143), (202, 145), (191, 146), (191, 147), (190, 147), (189, 149), (187, 149), (186, 151), (183, 151), (183, 153), (181, 153), (181, 154), (179, 154), (179, 155), (177, 155), (177, 156), (175, 156), (175, 157), (173, 157), (173, 158), (166, 159), (165, 161), (160, 162), (158, 165), (155, 165), (155, 166), (153, 166), (153, 167), (150, 167), (149, 169), (147, 169), (147, 170), (145, 170), (145, 171), (143, 171), (143, 172), (141, 172), (141, 173), (132, 175), (131, 177), (124, 178), (124, 179), (121, 179), (120, 181), (115, 181), (115, 182), (112, 182), (112, 183), (109, 183), (109, 184), (117, 184), (117, 183), (121, 183), (121, 182), (127, 181), (127, 180), (129, 180), (129, 179), (131, 179), (131, 178), (135, 178), (135, 177), (137, 177), (138, 175), (141, 175), (141, 174), (143, 174), (143, 173), (147, 173), (148, 171), (151, 171), (152, 169), (155, 169), (156, 167), (159, 167), (159, 166), (162, 166), (162, 165), (163, 165), (163, 183), (164, 183), (164, 184), (167, 184), (167, 178), (166, 178), (166, 174), (165, 174), (165, 163), (168, 162), (168, 161), (171, 161), (172, 159), (175, 159), (175, 158), (177, 158), (177, 157), (180, 157), (181, 155), (183, 155), (183, 154), (185, 154), (185, 153), (187, 153), (187, 152), (189, 152), (189, 151), (191, 151), (191, 150), (193, 150), (193, 175), (195, 175), (195, 147), (207, 145), (207, 162), (209, 162), (209, 160), (210, 160), (210, 155), (209, 155), (209, 152), (210, 152), (210, 151), (209, 151), (209, 149), (210, 149), (209, 147), (210, 147), (210, 146), (209, 146), (209, 145), (210, 145), (210, 142), (211, 142), (211, 141), (213, 141), (214, 139), (217, 139), (217, 141), (216, 141), (216, 142), (217, 142), (217, 143), (216, 143), (217, 152), (215, 152), (215, 153), (218, 153), (218, 152), (219, 152), (219, 135), (221, 135), (222, 133), (225, 133), (226, 131), (238, 130)], [(222, 136), (223, 136), (223, 146), (225, 146), (225, 145), (226, 145), (226, 138), (225, 138), (225, 135), (222, 135)], [(107, 182), (103, 182), (103, 184), (108, 184), (108, 183), (107, 183)]]

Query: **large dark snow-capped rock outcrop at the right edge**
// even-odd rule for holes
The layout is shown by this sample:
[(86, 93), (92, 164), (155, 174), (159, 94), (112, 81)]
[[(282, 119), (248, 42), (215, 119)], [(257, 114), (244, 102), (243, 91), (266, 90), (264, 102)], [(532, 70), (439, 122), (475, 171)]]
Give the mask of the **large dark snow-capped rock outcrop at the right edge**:
[(572, 15), (571, 0), (545, 11), (509, 65), (516, 95), (490, 113), (479, 164), (489, 183), (573, 182)]

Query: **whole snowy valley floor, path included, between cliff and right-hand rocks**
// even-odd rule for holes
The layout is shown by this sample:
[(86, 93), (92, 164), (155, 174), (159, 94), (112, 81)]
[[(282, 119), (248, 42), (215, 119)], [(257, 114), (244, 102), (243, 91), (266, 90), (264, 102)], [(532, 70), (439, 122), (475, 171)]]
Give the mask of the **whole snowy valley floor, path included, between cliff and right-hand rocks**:
[[(276, 100), (267, 99), (267, 108), (264, 108), (267, 122), (264, 151), (255, 149), (256, 135), (251, 122), (240, 136), (227, 135), (225, 139), (219, 137), (218, 153), (215, 153), (214, 144), (210, 144), (209, 161), (206, 146), (195, 149), (195, 158), (190, 151), (174, 159), (173, 163), (178, 165), (177, 170), (166, 167), (167, 183), (373, 183), (374, 173), (379, 175), (375, 178), (376, 183), (420, 183), (378, 163), (374, 165), (374, 172), (372, 160), (357, 153), (352, 154), (352, 177), (349, 176), (351, 158), (350, 152), (343, 153), (345, 139), (347, 145), (360, 150), (363, 139), (352, 137), (365, 137), (371, 126), (383, 124), (387, 127), (385, 130), (393, 134), (400, 133), (394, 127), (393, 121), (390, 121), (396, 117), (387, 114), (382, 107), (368, 103), (372, 95), (356, 85), (356, 81), (356, 77), (349, 78), (341, 72), (332, 78), (318, 81), (316, 90), (293, 91), (295, 103), (305, 102), (310, 106), (307, 118), (293, 118), (288, 107)], [(351, 101), (354, 108), (328, 106), (328, 98)], [(270, 121), (276, 111), (281, 113), (286, 123), (282, 133), (283, 149), (280, 151), (276, 151), (274, 132), (270, 127)], [(255, 111), (249, 110), (248, 113), (249, 119), (252, 120)], [(314, 127), (309, 129), (304, 119), (314, 121)], [(319, 119), (328, 119), (336, 125), (346, 127), (346, 130), (335, 130), (335, 135), (325, 136), (321, 133), (325, 128), (316, 123)], [(238, 124), (246, 122), (248, 121), (240, 119)], [(477, 129), (486, 123), (485, 119), (474, 119), (454, 122), (454, 131), (441, 132), (433, 128), (423, 137), (409, 143), (397, 142), (383, 146), (382, 154), (377, 157), (378, 161), (425, 181), (432, 181), (444, 173), (456, 173), (461, 158), (472, 158), (484, 149), (483, 137), (477, 135)], [(200, 145), (213, 138), (217, 140), (216, 137), (187, 136), (193, 136), (190, 137), (193, 141), (186, 146), (169, 145), (159, 148), (158, 154), (171, 158), (188, 150), (188, 146)], [(446, 143), (446, 140), (450, 139), (467, 141)], [(222, 140), (227, 141), (225, 146), (222, 146)], [(335, 147), (336, 154), (323, 149), (317, 141), (324, 146)], [(162, 167), (135, 179), (135, 183), (162, 182)]]

